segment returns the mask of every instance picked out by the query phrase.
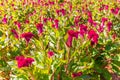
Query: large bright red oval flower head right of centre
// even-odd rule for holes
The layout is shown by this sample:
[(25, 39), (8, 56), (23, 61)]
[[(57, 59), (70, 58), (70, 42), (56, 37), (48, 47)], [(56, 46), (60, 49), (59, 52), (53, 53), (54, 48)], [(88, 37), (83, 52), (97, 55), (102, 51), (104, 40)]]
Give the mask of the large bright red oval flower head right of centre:
[(88, 32), (88, 38), (91, 40), (91, 45), (94, 45), (97, 44), (99, 36), (93, 29), (91, 29)]

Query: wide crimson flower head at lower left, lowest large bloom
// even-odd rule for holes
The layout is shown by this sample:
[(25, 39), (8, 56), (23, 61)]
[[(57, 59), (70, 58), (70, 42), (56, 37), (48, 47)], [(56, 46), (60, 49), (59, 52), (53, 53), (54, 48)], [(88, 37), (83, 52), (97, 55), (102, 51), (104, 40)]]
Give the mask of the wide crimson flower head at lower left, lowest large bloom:
[(29, 67), (33, 62), (33, 58), (25, 58), (24, 56), (16, 56), (18, 68)]

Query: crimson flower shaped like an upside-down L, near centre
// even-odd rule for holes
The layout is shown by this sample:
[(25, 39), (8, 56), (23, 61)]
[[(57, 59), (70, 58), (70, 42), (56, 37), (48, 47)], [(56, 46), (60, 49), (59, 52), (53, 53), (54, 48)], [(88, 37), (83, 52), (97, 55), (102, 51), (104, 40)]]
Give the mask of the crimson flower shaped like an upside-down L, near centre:
[(79, 32), (78, 31), (74, 31), (74, 30), (68, 30), (68, 39), (67, 39), (67, 46), (68, 47), (72, 47), (72, 40), (73, 38), (78, 38), (78, 34)]

